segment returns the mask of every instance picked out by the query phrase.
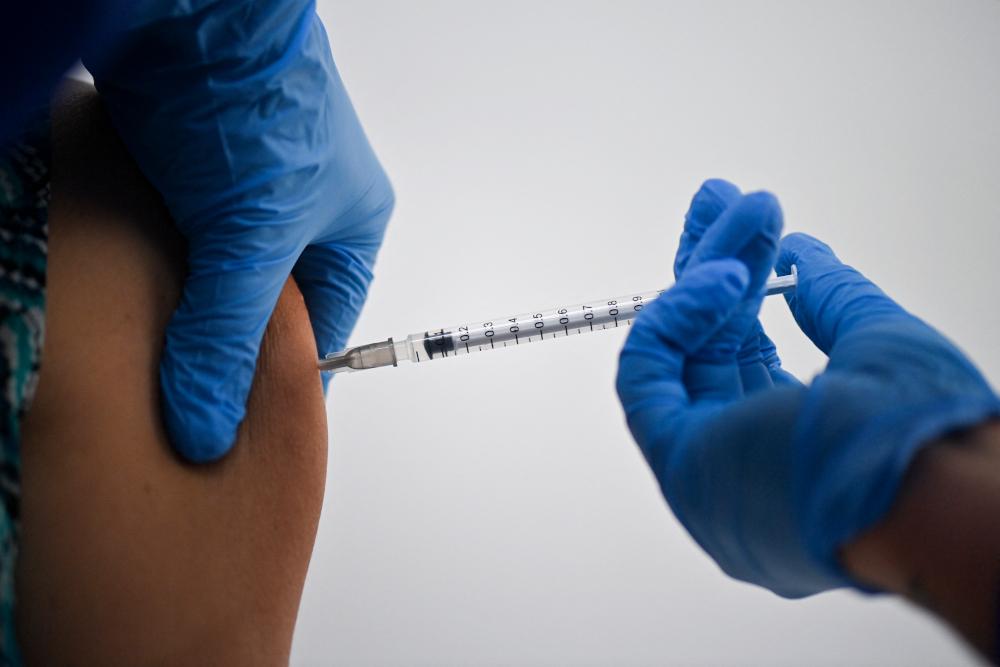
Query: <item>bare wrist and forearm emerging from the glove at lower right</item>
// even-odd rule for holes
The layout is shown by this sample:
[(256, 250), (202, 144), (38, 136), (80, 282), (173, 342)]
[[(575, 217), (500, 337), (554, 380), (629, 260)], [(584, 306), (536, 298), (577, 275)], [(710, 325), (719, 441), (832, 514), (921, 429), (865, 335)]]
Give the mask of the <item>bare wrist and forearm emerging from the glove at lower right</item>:
[(1000, 584), (1000, 422), (926, 447), (889, 513), (841, 551), (869, 585), (933, 611), (994, 659)]

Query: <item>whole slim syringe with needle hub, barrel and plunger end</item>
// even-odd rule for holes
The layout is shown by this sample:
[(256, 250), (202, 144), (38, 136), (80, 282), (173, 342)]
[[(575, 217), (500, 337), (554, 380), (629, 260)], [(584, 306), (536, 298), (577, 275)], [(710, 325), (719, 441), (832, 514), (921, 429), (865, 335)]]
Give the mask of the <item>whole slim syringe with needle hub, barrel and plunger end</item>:
[[(792, 292), (797, 283), (798, 273), (792, 266), (791, 275), (767, 281), (767, 295)], [(353, 373), (380, 366), (395, 366), (403, 360), (420, 363), (629, 326), (646, 304), (665, 291), (662, 289), (629, 294), (514, 317), (477, 320), (461, 326), (410, 334), (400, 341), (394, 342), (390, 338), (378, 343), (349, 347), (320, 359), (319, 369), (329, 373)]]

